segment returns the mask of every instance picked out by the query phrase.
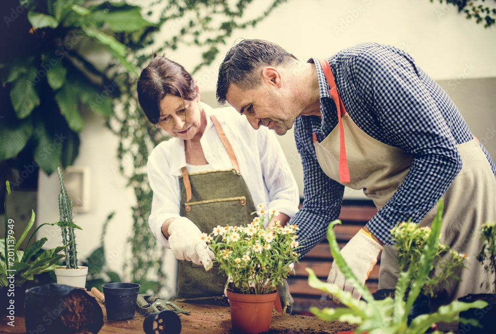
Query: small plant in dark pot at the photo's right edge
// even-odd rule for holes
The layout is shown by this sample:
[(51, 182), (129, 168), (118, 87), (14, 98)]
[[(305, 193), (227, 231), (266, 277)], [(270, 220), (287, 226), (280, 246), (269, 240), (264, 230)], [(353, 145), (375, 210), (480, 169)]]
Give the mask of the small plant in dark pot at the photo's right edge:
[[(474, 300), (485, 301), (489, 304), (488, 307), (477, 310), (470, 309), (460, 313), (460, 317), (466, 319), (476, 319), (479, 321), (480, 327), (471, 328), (469, 325), (460, 324), (458, 333), (473, 333), (483, 334), (488, 333), (488, 329), (494, 326), (496, 318), (496, 223), (487, 222), (481, 226), (481, 238), (484, 241), (481, 251), (477, 255), (477, 260), (484, 266), (488, 274), (487, 289), (490, 293), (470, 294), (459, 300), (470, 302)], [(493, 288), (491, 286), (494, 285)], [(482, 286), (481, 286), (482, 287)]]

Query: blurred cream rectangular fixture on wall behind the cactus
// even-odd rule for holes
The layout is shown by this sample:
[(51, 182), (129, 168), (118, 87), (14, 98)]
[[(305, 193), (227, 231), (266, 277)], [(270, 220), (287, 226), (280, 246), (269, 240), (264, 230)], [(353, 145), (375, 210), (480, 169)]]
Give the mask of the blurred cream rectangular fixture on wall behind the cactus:
[(75, 212), (88, 212), (90, 209), (90, 168), (69, 166), (64, 170), (63, 179), (67, 195), (72, 200)]

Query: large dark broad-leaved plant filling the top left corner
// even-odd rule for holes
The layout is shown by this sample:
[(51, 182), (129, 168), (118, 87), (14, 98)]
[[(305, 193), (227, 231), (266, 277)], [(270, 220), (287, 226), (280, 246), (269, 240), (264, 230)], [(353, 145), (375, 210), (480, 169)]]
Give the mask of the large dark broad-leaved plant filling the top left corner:
[[(155, 30), (141, 8), (124, 2), (89, 0), (4, 0), (16, 9), (7, 25), (0, 56), (0, 163), (20, 169), (39, 166), (47, 174), (74, 162), (84, 127), (81, 106), (108, 118), (120, 90), (109, 69), (136, 67), (117, 40), (124, 32)], [(88, 49), (102, 56), (88, 57)], [(107, 54), (110, 65), (101, 59)], [(15, 186), (15, 185), (13, 185)]]

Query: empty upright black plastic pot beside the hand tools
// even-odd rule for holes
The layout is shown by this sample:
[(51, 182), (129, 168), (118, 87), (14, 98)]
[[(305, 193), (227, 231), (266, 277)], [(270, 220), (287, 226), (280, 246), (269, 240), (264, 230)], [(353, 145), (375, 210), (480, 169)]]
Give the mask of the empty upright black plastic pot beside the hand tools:
[(134, 318), (139, 284), (105, 283), (102, 284), (105, 295), (105, 309), (109, 320), (129, 320)]

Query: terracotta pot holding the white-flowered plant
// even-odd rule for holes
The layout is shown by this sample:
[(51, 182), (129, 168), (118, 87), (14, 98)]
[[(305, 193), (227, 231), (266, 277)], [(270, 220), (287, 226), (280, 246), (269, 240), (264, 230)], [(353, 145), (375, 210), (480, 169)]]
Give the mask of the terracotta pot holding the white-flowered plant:
[(272, 306), (277, 292), (249, 295), (227, 291), (231, 324), (236, 333), (257, 334), (270, 329)]

